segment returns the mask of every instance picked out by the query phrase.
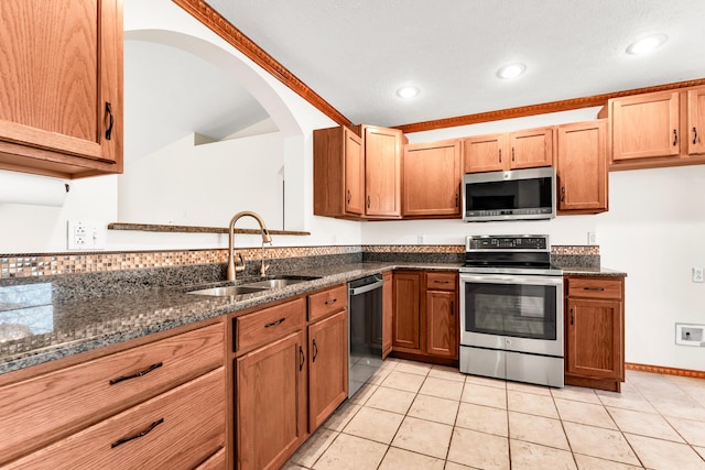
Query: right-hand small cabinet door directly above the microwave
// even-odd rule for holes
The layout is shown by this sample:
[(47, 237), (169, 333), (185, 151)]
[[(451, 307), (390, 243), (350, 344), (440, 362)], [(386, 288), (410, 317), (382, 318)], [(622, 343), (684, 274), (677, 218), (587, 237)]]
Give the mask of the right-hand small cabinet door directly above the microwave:
[(509, 134), (509, 167), (533, 168), (553, 165), (553, 129), (538, 128)]

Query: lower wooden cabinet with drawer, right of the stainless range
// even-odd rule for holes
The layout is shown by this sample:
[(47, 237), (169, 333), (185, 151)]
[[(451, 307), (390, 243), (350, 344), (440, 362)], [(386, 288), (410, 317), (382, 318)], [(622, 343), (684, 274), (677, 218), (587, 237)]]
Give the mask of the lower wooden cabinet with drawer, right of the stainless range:
[(619, 392), (625, 381), (625, 280), (565, 281), (565, 383)]

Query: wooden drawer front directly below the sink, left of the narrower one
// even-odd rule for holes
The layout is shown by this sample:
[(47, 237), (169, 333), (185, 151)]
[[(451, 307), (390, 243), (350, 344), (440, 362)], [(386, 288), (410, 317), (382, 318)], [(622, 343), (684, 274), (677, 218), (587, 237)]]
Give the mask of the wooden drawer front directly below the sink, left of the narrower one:
[(288, 332), (302, 329), (305, 324), (306, 300), (297, 298), (274, 307), (235, 319), (235, 350), (242, 352), (264, 345)]

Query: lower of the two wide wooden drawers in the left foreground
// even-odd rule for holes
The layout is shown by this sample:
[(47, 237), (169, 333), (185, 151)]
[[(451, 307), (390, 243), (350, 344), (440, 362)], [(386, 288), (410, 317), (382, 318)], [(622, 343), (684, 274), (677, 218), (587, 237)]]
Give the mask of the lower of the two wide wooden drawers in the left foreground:
[(225, 413), (221, 367), (7, 468), (192, 469), (224, 446)]

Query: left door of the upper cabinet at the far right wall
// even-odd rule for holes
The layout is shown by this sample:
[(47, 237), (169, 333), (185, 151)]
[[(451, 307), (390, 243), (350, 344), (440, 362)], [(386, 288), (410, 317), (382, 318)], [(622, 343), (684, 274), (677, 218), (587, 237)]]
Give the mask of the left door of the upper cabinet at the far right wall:
[(664, 91), (611, 102), (612, 163), (680, 153), (679, 94)]

